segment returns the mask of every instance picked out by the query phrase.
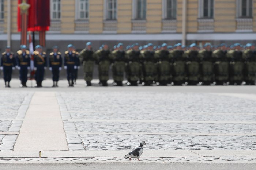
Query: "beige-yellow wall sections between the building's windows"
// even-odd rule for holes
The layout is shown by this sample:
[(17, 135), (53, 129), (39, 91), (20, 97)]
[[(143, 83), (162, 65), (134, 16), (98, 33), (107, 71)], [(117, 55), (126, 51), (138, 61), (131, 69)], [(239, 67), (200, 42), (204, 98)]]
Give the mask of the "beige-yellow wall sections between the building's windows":
[[(12, 1), (12, 33), (17, 33), (17, 0)], [(214, 32), (236, 31), (235, 0), (215, 0)], [(117, 0), (117, 33), (132, 31), (132, 0)], [(103, 31), (104, 0), (89, 0), (89, 33), (101, 34)], [(253, 1), (253, 31), (256, 32), (256, 0)], [(7, 1), (5, 1), (4, 33), (7, 32)], [(198, 1), (187, 2), (187, 32), (198, 31)], [(147, 33), (162, 32), (162, 0), (147, 0)], [(177, 33), (182, 30), (182, 0), (177, 0)], [(61, 33), (72, 34), (75, 31), (75, 0), (61, 0)]]

